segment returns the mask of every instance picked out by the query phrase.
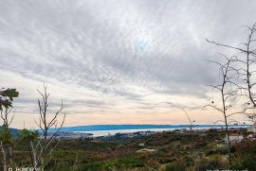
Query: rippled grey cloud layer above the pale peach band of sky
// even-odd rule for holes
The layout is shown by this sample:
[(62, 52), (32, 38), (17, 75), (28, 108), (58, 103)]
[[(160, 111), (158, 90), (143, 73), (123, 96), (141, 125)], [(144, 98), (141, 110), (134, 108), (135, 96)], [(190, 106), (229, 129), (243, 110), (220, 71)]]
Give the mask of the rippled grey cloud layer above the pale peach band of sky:
[[(219, 48), (214, 50), (205, 38), (240, 43), (240, 26), (256, 18), (251, 8), (256, 3), (247, 4), (0, 1), (0, 70), (38, 81), (50, 77), (138, 105), (148, 103), (147, 94), (207, 98), (204, 86), (217, 81), (217, 70), (205, 60), (218, 56)], [(130, 84), (150, 92), (136, 92)], [(110, 106), (101, 99), (73, 101), (78, 106), (83, 103)]]

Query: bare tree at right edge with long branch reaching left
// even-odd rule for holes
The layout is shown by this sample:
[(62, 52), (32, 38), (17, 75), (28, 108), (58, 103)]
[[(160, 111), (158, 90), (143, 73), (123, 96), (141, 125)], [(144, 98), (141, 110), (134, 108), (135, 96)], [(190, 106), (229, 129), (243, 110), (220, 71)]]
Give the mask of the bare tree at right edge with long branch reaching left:
[(235, 47), (224, 43), (216, 43), (207, 40), (209, 43), (216, 44), (229, 49), (237, 50), (241, 52), (242, 57), (233, 59), (233, 62), (237, 63), (237, 71), (244, 82), (244, 85), (240, 86), (243, 91), (243, 96), (246, 97), (244, 103), (244, 113), (251, 122), (256, 121), (256, 24), (253, 26), (245, 26), (247, 28), (247, 41), (244, 43), (245, 47)]

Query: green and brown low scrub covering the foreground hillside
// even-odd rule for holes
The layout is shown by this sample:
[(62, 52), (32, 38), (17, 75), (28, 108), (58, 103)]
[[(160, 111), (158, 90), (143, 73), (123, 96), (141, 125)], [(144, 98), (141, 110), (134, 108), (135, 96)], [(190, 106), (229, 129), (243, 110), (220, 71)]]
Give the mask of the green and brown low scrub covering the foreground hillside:
[[(246, 133), (243, 129), (233, 132)], [(165, 131), (133, 138), (114, 136), (63, 140), (48, 156), (45, 169), (52, 171), (225, 169), (229, 166), (225, 134), (223, 130), (210, 129), (192, 133)], [(22, 142), (13, 147), (17, 164), (31, 165), (28, 147)], [(142, 148), (155, 150), (138, 152)], [(256, 170), (256, 141), (244, 139), (241, 143), (233, 144), (230, 152), (233, 169)]]

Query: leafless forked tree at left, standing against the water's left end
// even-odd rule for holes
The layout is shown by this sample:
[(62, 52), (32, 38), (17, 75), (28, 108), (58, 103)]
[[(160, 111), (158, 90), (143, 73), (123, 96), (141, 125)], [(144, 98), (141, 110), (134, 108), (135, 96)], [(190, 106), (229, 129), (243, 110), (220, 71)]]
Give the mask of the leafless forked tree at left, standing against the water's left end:
[(60, 120), (61, 122), (59, 122), (60, 115), (64, 110), (63, 100), (59, 110), (55, 111), (53, 114), (48, 113), (49, 94), (47, 93), (47, 86), (45, 83), (43, 92), (38, 90), (38, 93), (41, 95), (41, 99), (38, 99), (40, 117), (39, 121), (35, 122), (40, 128), (43, 136), (35, 143), (34, 141), (30, 141), (29, 146), (34, 169), (38, 167), (44, 169), (46, 166), (46, 157), (50, 156), (59, 144), (60, 139), (58, 139), (57, 135), (64, 126), (65, 113), (63, 118)]

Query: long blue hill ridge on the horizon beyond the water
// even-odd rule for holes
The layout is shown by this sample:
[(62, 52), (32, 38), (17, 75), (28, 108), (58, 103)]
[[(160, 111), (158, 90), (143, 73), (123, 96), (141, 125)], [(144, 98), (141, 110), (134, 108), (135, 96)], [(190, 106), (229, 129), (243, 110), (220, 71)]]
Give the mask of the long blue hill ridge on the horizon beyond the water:
[[(221, 128), (223, 125), (194, 125), (192, 128)], [(245, 127), (231, 126), (231, 127)], [(119, 130), (119, 129), (150, 129), (150, 128), (190, 128), (189, 125), (91, 125), (91, 126), (77, 126), (64, 127), (61, 131), (93, 131), (93, 130)], [(54, 129), (51, 129), (54, 130)]]

